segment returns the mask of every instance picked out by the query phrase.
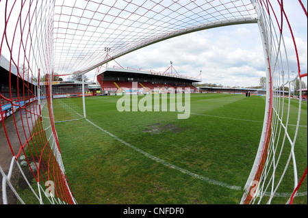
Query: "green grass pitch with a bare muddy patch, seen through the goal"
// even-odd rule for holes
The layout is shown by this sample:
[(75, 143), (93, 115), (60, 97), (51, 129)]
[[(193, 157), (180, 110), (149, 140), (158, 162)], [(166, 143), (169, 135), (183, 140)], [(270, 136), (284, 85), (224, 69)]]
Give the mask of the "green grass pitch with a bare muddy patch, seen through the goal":
[[(87, 119), (136, 149), (86, 120), (56, 124), (68, 182), (79, 204), (240, 202), (259, 146), (264, 97), (192, 94), (191, 114), (186, 120), (177, 119), (176, 111), (119, 112), (116, 102), (120, 98), (86, 98)], [(292, 100), (290, 109), (294, 111), (296, 107), (296, 100)], [(300, 127), (296, 140), (298, 177), (307, 166), (307, 103), (303, 103), (301, 115), (300, 124), (306, 127)], [(294, 118), (290, 122), (296, 124)], [(140, 150), (193, 174), (241, 189), (228, 189), (192, 177)], [(292, 178), (290, 172), (287, 176)], [(292, 182), (283, 184), (281, 191), (290, 193)], [(304, 191), (307, 192), (307, 179), (299, 192)], [(287, 200), (277, 198), (278, 204)], [(296, 197), (294, 204), (307, 204), (307, 195)]]

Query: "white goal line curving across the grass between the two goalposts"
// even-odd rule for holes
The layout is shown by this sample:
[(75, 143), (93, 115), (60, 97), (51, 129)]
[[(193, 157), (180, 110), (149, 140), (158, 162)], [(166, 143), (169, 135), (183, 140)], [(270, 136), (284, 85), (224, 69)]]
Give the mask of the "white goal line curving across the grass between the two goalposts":
[(100, 126), (97, 126), (97, 124), (94, 124), (93, 122), (91, 122), (90, 120), (88, 120), (87, 118), (85, 118), (86, 121), (88, 121), (90, 124), (92, 124), (93, 126), (99, 128), (99, 130), (103, 131), (104, 133), (106, 133), (107, 135), (110, 135), (111, 137), (114, 137), (114, 139), (120, 141), (122, 144), (125, 144), (125, 146), (128, 146), (129, 148), (132, 148), (133, 150), (136, 150), (137, 152), (140, 152), (141, 154), (144, 154), (144, 156), (149, 157), (150, 159), (152, 159), (153, 161), (157, 161), (158, 163), (162, 163), (163, 165), (165, 165), (166, 167), (170, 167), (172, 169), (176, 169), (177, 171), (183, 173), (183, 174), (187, 174), (189, 176), (192, 176), (194, 178), (198, 178), (200, 180), (203, 180), (205, 182), (208, 182), (212, 185), (219, 185), (221, 187), (227, 188), (227, 189), (233, 189), (233, 190), (240, 190), (242, 189), (241, 187), (235, 186), (235, 185), (229, 185), (227, 183), (224, 182), (220, 182), (220, 181), (216, 181), (214, 179), (211, 178), (207, 178), (205, 176), (200, 176), (198, 174), (194, 174), (193, 172), (190, 172), (186, 169), (183, 169), (181, 167), (178, 167), (176, 165), (173, 165), (171, 163), (168, 163), (162, 159), (157, 158), (156, 156), (153, 156), (147, 152), (144, 152), (144, 150), (141, 150), (135, 146), (132, 146), (131, 144), (127, 143), (126, 141), (124, 141), (123, 139), (120, 139), (119, 137), (117, 137), (116, 135), (113, 135), (112, 133), (105, 131), (105, 129), (101, 128)]

